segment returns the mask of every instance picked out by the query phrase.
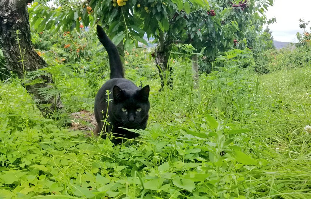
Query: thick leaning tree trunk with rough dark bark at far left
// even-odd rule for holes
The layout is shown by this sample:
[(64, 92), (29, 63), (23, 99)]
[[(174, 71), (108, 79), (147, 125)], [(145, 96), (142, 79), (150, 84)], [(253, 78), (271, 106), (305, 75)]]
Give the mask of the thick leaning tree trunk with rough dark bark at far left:
[[(30, 41), (29, 15), (27, 3), (32, 0), (0, 0), (0, 48), (5, 57), (5, 67), (24, 79), (25, 72), (44, 68), (45, 61), (35, 52)], [(16, 40), (16, 30), (19, 30), (19, 42)], [(18, 44), (19, 43), (19, 44)], [(21, 53), (22, 56), (21, 56)], [(23, 63), (20, 61), (23, 59)], [(50, 76), (39, 77), (44, 83), (26, 86), (27, 91), (39, 102), (39, 109), (45, 115), (63, 107), (59, 95), (45, 100), (38, 88), (49, 88), (53, 83)], [(56, 106), (55, 106), (56, 102)], [(46, 106), (48, 104), (48, 106)], [(44, 107), (44, 108), (43, 108)]]

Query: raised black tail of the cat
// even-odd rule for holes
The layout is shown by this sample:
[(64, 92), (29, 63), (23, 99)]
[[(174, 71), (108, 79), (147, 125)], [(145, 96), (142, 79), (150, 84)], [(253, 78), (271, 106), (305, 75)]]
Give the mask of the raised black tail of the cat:
[(114, 43), (112, 43), (101, 26), (97, 25), (96, 30), (100, 43), (104, 45), (109, 56), (110, 79), (124, 78), (122, 62), (117, 47), (114, 45)]

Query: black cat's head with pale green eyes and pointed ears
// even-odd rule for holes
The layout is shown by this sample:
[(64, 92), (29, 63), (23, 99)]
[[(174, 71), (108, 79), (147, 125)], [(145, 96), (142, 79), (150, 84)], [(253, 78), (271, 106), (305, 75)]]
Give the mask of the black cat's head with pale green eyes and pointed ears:
[(149, 86), (137, 91), (123, 91), (118, 86), (113, 89), (113, 114), (114, 117), (127, 128), (140, 128), (146, 123), (150, 109)]

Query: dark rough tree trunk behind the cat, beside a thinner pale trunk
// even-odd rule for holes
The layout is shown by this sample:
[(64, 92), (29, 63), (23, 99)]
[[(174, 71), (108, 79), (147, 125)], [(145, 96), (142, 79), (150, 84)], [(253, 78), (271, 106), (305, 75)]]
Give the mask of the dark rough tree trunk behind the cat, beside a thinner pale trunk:
[(172, 78), (172, 67), (168, 64), (168, 58), (165, 53), (165, 46), (164, 46), (164, 34), (163, 32), (160, 33), (159, 43), (156, 46), (156, 66), (159, 69), (159, 76), (161, 87), (159, 91), (162, 91), (164, 88), (165, 83), (169, 86), (169, 88), (173, 88), (173, 78)]

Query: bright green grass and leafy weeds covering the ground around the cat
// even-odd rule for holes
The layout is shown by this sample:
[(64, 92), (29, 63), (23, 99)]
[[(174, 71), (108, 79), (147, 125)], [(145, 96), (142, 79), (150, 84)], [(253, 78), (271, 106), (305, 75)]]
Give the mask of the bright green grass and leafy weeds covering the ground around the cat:
[[(116, 147), (44, 119), (19, 81), (1, 83), (1, 198), (310, 198), (311, 68), (235, 78), (233, 66), (193, 90), (184, 66), (161, 93), (146, 71), (127, 71), (152, 88), (150, 120)], [(68, 111), (91, 110), (101, 83), (74, 90), (88, 78), (59, 77)]]

